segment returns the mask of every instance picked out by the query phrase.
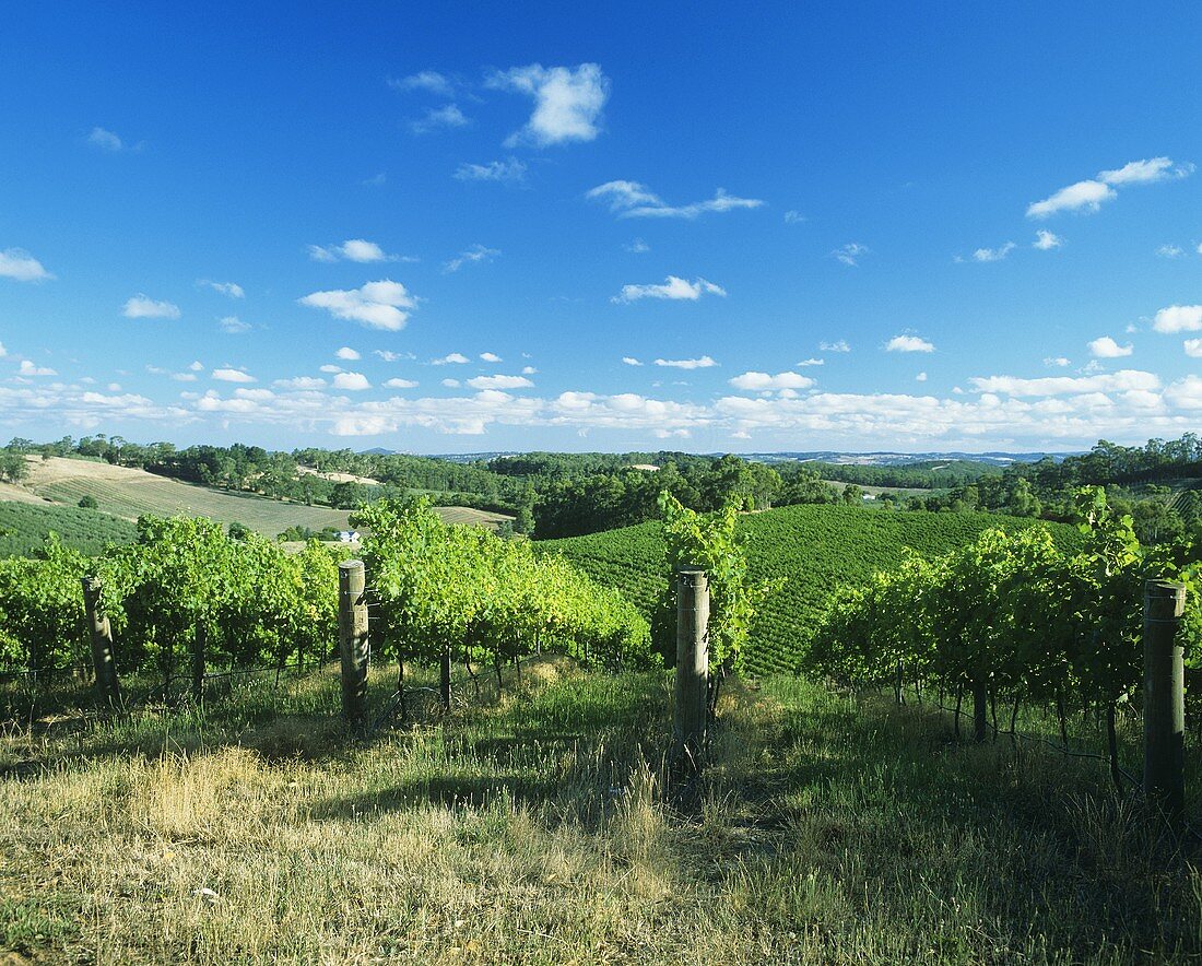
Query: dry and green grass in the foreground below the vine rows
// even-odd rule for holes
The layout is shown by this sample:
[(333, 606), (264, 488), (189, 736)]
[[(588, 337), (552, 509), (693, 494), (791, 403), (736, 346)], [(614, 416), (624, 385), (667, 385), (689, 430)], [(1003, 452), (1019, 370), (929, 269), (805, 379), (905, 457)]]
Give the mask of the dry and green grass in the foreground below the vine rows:
[(0, 961), (1202, 954), (1196, 855), (1093, 763), (775, 679), (724, 697), (683, 816), (661, 804), (665, 678), (543, 661), (512, 685), (359, 745), (328, 673), (234, 685), (203, 715), (10, 726)]

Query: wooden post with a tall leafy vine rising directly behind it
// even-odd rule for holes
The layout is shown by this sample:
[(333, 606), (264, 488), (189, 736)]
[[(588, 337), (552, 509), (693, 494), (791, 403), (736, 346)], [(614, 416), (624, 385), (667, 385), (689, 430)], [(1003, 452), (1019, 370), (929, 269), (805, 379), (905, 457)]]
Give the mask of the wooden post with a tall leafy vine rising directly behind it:
[(677, 678), (673, 757), (700, 771), (709, 723), (709, 580), (700, 568), (677, 572)]

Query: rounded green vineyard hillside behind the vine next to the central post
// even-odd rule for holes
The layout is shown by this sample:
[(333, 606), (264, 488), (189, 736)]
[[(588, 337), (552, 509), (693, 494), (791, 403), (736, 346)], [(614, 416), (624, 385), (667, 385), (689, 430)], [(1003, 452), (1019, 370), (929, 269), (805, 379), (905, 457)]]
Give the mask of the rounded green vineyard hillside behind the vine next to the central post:
[[(746, 649), (755, 673), (792, 670), (817, 610), (841, 580), (857, 580), (902, 561), (903, 548), (936, 556), (971, 542), (983, 530), (1031, 526), (1034, 521), (988, 513), (882, 512), (862, 507), (795, 506), (748, 514), (748, 539), (756, 578), (785, 577), (764, 604)], [(1066, 543), (1077, 532), (1046, 524)], [(645, 614), (665, 586), (660, 524), (536, 544), (560, 553), (594, 579), (619, 588)]]

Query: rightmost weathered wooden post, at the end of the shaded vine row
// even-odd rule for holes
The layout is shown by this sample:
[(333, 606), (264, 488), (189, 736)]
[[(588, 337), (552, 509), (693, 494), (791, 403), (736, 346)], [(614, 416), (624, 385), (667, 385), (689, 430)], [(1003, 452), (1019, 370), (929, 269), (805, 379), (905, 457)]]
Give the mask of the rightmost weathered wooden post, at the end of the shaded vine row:
[(1170, 815), (1185, 810), (1185, 666), (1177, 631), (1185, 584), (1143, 589), (1143, 792)]

